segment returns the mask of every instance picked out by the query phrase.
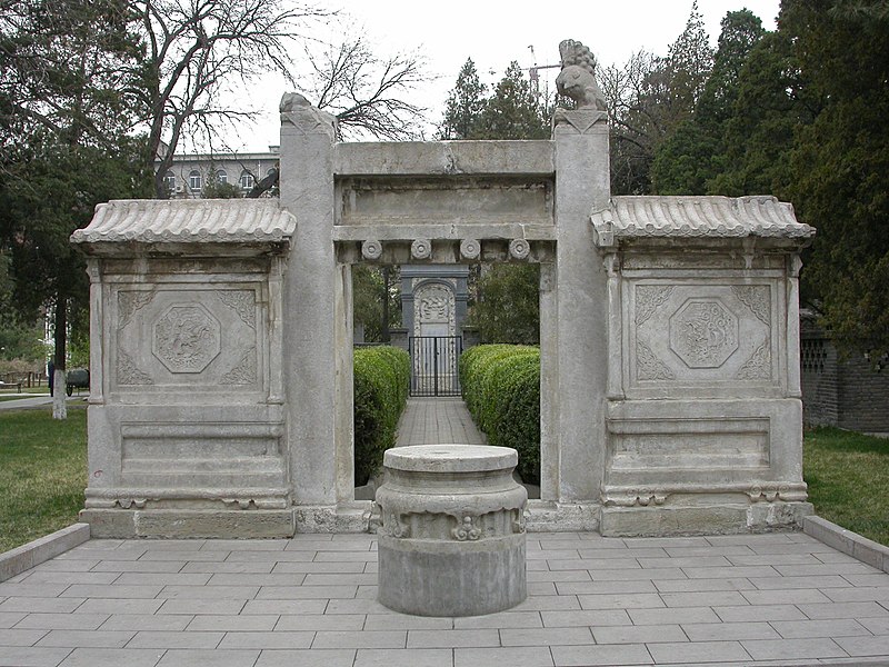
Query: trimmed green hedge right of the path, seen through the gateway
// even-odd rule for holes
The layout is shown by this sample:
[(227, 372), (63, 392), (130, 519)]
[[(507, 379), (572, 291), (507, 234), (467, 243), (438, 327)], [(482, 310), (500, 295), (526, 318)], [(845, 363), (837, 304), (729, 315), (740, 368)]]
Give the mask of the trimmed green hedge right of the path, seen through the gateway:
[(540, 484), (540, 349), (480, 345), (460, 357), (460, 384), (488, 444), (519, 452), (522, 481)]

